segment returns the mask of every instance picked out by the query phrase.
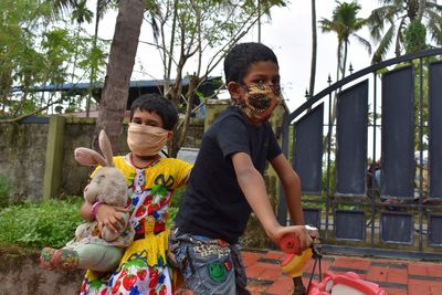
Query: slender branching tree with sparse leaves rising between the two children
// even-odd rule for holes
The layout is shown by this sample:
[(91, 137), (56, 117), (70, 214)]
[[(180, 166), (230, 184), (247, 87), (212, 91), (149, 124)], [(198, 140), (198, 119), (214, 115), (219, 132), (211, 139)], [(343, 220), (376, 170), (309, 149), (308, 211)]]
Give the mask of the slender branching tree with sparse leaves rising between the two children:
[[(169, 155), (175, 157), (182, 146), (190, 117), (197, 108), (193, 99), (206, 101), (199, 88), (222, 62), (227, 51), (256, 24), (262, 14), (270, 15), (283, 1), (161, 0), (154, 14), (159, 29), (157, 48), (164, 65), (164, 94), (181, 109), (185, 118), (175, 131)], [(189, 70), (191, 69), (191, 70)], [(182, 78), (189, 78), (186, 93)]]

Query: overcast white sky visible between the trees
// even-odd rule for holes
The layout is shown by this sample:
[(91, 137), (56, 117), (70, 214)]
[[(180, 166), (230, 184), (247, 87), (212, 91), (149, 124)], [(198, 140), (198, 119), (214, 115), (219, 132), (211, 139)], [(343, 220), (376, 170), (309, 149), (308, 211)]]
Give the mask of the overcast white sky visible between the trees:
[[(376, 0), (359, 0), (361, 6), (359, 18), (366, 18), (370, 11), (378, 7)], [(334, 0), (316, 0), (316, 19), (332, 19), (336, 2)], [(312, 29), (311, 29), (311, 1), (292, 0), (285, 8), (274, 8), (271, 19), (262, 24), (261, 42), (270, 46), (276, 54), (280, 64), (281, 82), (284, 98), (291, 110), (305, 102), (305, 91), (309, 84)], [(116, 12), (109, 12), (99, 27), (99, 36), (112, 39), (115, 27)], [(328, 86), (327, 78), (336, 74), (337, 38), (333, 33), (322, 33), (317, 29), (317, 62), (315, 93)], [(370, 40), (367, 30), (358, 32), (359, 35)], [(140, 41), (151, 41), (151, 31), (144, 24)], [(243, 42), (257, 42), (257, 28), (254, 28)], [(371, 40), (370, 40), (371, 41)], [(392, 55), (388, 56), (392, 57)], [(357, 72), (370, 65), (371, 56), (356, 39), (350, 39), (348, 63)], [(188, 71), (191, 69), (187, 69)], [(131, 80), (162, 78), (160, 57), (151, 46), (140, 43), (138, 46), (136, 64)], [(223, 76), (220, 66), (212, 72), (212, 76)], [(334, 81), (335, 82), (335, 81)]]

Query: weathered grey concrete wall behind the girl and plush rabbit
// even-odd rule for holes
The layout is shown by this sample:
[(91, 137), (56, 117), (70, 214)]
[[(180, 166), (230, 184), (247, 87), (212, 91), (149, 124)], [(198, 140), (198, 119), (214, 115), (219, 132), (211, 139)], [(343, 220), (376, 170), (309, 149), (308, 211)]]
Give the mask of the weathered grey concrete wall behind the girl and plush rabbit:
[[(0, 177), (7, 178), (12, 187), (10, 202), (24, 199), (41, 200), (48, 193), (53, 197), (53, 191), (59, 191), (56, 194), (62, 196), (82, 194), (93, 168), (80, 166), (74, 159), (74, 149), (92, 146), (95, 120), (65, 118), (60, 127), (63, 128), (62, 141), (57, 138), (60, 136), (53, 139), (54, 135), (50, 133), (51, 124), (0, 124)], [(201, 122), (192, 124), (185, 146), (199, 147), (202, 133)], [(60, 141), (62, 150), (59, 156), (52, 141)], [(118, 147), (120, 150), (114, 151), (114, 155), (128, 151), (126, 128)], [(53, 169), (49, 169), (50, 166), (53, 166)], [(56, 170), (56, 167), (60, 167), (60, 170)], [(52, 173), (52, 177), (48, 173)]]

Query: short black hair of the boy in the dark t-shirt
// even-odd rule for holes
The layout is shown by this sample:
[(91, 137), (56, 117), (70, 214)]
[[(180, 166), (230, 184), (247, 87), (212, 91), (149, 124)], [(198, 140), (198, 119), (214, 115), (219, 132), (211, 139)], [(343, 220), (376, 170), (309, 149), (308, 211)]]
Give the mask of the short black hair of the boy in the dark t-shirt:
[(251, 64), (266, 61), (277, 65), (275, 53), (264, 44), (249, 42), (234, 45), (224, 59), (225, 84), (243, 83)]

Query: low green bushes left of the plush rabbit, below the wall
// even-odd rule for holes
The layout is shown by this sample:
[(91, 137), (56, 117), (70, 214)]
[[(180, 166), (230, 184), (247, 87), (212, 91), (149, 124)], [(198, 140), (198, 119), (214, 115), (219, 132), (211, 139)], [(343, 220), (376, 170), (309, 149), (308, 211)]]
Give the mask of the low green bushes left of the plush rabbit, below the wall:
[(50, 200), (11, 206), (0, 211), (0, 242), (27, 247), (61, 247), (74, 238), (82, 222), (83, 200)]

